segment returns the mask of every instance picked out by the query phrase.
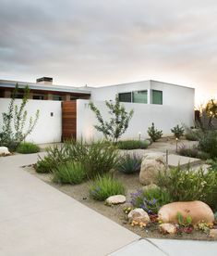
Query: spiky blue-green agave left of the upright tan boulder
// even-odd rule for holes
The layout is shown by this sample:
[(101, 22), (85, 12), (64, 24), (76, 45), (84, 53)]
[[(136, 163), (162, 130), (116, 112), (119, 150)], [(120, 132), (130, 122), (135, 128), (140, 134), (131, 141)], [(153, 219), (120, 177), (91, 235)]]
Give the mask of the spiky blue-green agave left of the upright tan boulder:
[(142, 158), (136, 154), (125, 154), (119, 161), (117, 170), (121, 173), (138, 173)]

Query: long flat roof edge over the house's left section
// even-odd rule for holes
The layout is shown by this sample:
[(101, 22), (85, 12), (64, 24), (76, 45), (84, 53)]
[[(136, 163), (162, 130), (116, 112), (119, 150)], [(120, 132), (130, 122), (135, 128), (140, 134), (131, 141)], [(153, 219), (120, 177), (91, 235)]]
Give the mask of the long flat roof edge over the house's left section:
[(55, 85), (46, 83), (29, 83), (29, 82), (19, 82), (11, 80), (0, 80), (0, 87), (14, 88), (18, 83), (19, 88), (24, 88), (26, 85), (32, 90), (42, 90), (42, 91), (54, 91), (54, 92), (66, 92), (66, 93), (80, 93), (90, 95), (91, 91), (84, 89), (84, 87), (74, 87), (66, 85)]

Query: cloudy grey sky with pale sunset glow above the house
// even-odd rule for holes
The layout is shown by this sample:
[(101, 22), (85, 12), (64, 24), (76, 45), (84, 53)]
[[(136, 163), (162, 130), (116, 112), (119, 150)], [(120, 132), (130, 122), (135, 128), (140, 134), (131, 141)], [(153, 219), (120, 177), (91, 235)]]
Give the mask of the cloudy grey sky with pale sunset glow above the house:
[(152, 79), (217, 98), (216, 0), (0, 0), (0, 35), (0, 79)]

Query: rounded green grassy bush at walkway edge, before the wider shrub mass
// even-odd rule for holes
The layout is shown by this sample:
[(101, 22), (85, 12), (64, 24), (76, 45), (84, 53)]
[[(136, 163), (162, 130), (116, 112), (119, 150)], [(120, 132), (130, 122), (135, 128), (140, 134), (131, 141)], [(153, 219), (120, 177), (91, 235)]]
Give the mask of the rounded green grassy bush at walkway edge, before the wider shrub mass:
[(80, 162), (66, 162), (54, 170), (53, 181), (60, 184), (80, 184), (86, 178), (86, 171)]

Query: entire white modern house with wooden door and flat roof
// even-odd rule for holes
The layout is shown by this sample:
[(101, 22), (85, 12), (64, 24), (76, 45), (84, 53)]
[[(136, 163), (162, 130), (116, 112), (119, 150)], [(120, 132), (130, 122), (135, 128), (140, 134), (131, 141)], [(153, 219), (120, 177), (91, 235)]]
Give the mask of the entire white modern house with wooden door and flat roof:
[(89, 102), (91, 100), (102, 111), (103, 118), (108, 119), (105, 100), (115, 100), (115, 96), (127, 110), (134, 109), (122, 139), (139, 138), (139, 134), (147, 137), (151, 122), (163, 130), (164, 135), (170, 135), (176, 124), (192, 126), (194, 123), (194, 88), (152, 80), (102, 87), (54, 85), (48, 78), (44, 83), (43, 79), (38, 81), (40, 83), (0, 80), (0, 112), (6, 111), (9, 92), (16, 83), (20, 87), (29, 84), (28, 112), (32, 114), (36, 109), (41, 112), (36, 129), (28, 137), (36, 143), (57, 142), (70, 136), (87, 140), (101, 138), (102, 134), (93, 127), (97, 121)]

